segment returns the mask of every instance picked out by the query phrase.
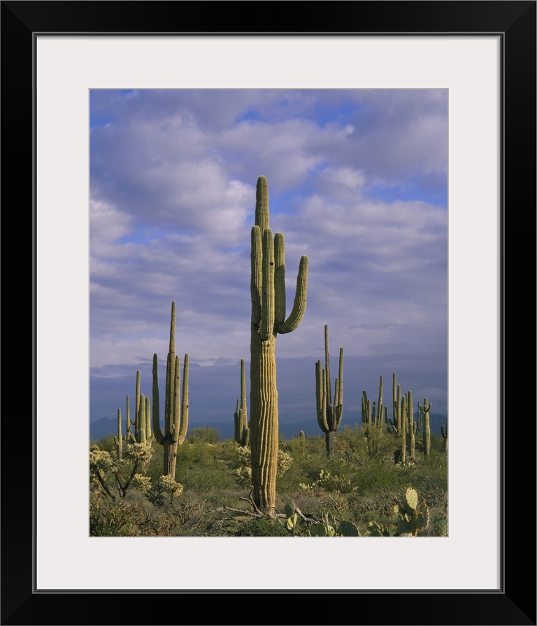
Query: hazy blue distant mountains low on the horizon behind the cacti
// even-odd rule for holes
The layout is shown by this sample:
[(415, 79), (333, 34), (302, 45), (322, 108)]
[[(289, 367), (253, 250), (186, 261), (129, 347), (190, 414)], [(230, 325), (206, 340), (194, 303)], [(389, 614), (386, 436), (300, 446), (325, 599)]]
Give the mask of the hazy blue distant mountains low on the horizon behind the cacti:
[[(414, 416), (416, 418), (416, 415)], [(445, 415), (438, 415), (435, 413), (431, 413), (429, 415), (430, 423), (431, 423), (431, 432), (434, 435), (441, 435), (441, 425), (445, 427), (446, 418)], [(343, 421), (341, 422), (341, 427), (348, 425), (349, 428), (354, 427), (355, 423), (359, 424), (359, 421), (355, 420), (353, 422), (345, 422), (345, 416), (343, 416)], [(234, 425), (231, 422), (189, 422), (188, 430), (194, 430), (195, 428), (215, 428), (218, 432), (220, 432), (220, 439), (224, 441), (225, 439), (232, 439), (234, 437)], [(322, 435), (322, 432), (317, 425), (316, 419), (310, 419), (301, 422), (294, 423), (281, 423), (280, 422), (280, 430), (282, 431), (282, 435), (285, 439), (292, 439), (296, 437), (301, 430), (306, 432), (308, 435)], [(107, 417), (103, 417), (97, 421), (90, 423), (90, 439), (92, 441), (99, 441), (99, 439), (103, 439), (103, 437), (108, 437), (109, 435), (114, 435), (117, 433), (117, 419), (110, 419)]]

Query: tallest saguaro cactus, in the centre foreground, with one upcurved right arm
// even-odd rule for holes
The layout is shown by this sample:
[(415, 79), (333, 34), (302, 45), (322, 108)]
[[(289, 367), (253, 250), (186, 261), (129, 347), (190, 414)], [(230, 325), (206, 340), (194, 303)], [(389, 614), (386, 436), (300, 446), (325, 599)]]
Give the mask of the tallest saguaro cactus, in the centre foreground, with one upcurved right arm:
[(273, 233), (268, 216), (268, 182), (257, 179), (252, 226), (252, 318), (250, 337), (250, 449), (252, 498), (269, 514), (275, 509), (278, 469), (278, 390), (276, 336), (291, 333), (306, 312), (308, 257), (302, 256), (291, 313), (285, 318), (285, 251), (282, 233)]

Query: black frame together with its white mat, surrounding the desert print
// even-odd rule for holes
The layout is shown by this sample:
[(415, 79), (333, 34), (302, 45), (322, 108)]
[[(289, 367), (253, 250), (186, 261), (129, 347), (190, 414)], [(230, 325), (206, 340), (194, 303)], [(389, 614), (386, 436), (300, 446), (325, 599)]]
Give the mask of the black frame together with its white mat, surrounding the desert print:
[[(318, 12), (312, 11), (317, 6)], [(224, 31), (229, 15), (224, 3), (1, 3), (4, 208), (15, 202), (18, 214), (31, 215), (33, 260), (33, 400), (31, 418), (25, 420), (31, 423), (32, 445), (23, 463), (22, 419), (5, 416), (2, 424), (2, 624), (174, 619), (536, 624), (536, 524), (531, 509), (524, 512), (524, 502), (533, 503), (536, 493), (535, 420), (519, 415), (526, 402), (520, 382), (516, 395), (506, 387), (506, 355), (512, 351), (514, 358), (515, 346), (521, 346), (518, 370), (527, 367), (524, 347), (535, 312), (515, 298), (515, 289), (511, 294), (506, 289), (505, 271), (506, 261), (516, 262), (517, 275), (534, 278), (529, 268), (535, 268), (536, 232), (536, 2), (311, 3), (306, 27), (299, 20), (303, 5), (290, 2), (286, 13), (294, 9), (296, 18), (289, 16), (285, 30), (275, 26), (281, 8), (250, 3), (244, 17), (248, 29)], [(185, 15), (187, 28), (182, 27)], [(447, 209), (447, 537), (413, 542), (325, 537), (317, 546), (317, 539), (300, 537), (282, 542), (89, 536), (90, 256), (92, 263), (104, 259), (90, 254), (95, 207), (90, 210), (89, 129), (108, 121), (110, 108), (99, 108), (99, 96), (121, 92), (128, 97), (131, 90), (167, 96), (188, 90), (194, 98), (215, 90), (214, 101), (199, 98), (208, 126), (216, 112), (222, 116), (227, 106), (232, 109), (227, 94), (285, 91), (299, 100), (306, 92), (334, 98), (351, 92), (427, 94), (427, 103), (413, 101), (422, 122), (416, 141), (431, 133), (425, 128), (429, 117), (422, 113), (426, 105), (437, 115), (445, 102), (445, 136), (439, 140), (448, 155), (445, 197), (434, 196), (438, 155), (427, 158), (431, 198)], [(341, 103), (343, 110), (345, 100)], [(91, 114), (101, 118), (90, 119)], [(141, 119), (132, 118), (136, 124)], [(368, 123), (373, 128), (374, 120)], [(200, 129), (194, 129), (192, 147), (201, 141)], [(355, 131), (351, 124), (341, 128)], [(394, 132), (387, 127), (385, 142), (393, 140), (394, 150), (386, 152), (393, 163), (403, 163), (413, 148), (403, 146)], [(132, 137), (129, 157), (143, 132)], [(111, 144), (105, 141), (101, 149), (97, 167), (104, 187), (107, 168), (122, 168)], [(373, 162), (371, 146), (364, 143), (362, 150), (368, 155), (364, 162)], [(253, 159), (255, 148), (249, 154)], [(333, 175), (332, 182), (338, 176), (340, 187), (343, 176), (350, 198), (362, 183), (341, 163), (327, 176)], [(282, 172), (289, 175), (289, 170), (284, 159)], [(228, 187), (234, 198), (255, 184), (241, 176)], [(380, 175), (378, 181), (377, 197), (385, 201), (387, 187)], [(182, 180), (183, 189), (188, 182), (188, 177)], [(144, 189), (161, 184), (157, 176)], [(127, 201), (136, 203), (131, 180), (129, 185)], [(99, 206), (103, 232), (129, 219), (127, 213), (113, 214), (104, 201)], [(308, 215), (314, 214), (311, 204)], [(133, 236), (138, 235), (145, 236)], [(292, 238), (289, 242), (290, 250), (299, 249)], [(182, 240), (180, 245), (190, 244)], [(291, 263), (289, 276), (294, 271)], [(415, 297), (419, 300), (420, 293)], [(513, 315), (508, 328), (506, 305), (515, 301), (517, 321)], [(10, 310), (10, 303), (4, 308)], [(530, 321), (524, 315), (528, 308)], [(506, 337), (513, 348), (506, 349)], [(22, 358), (15, 362), (15, 371), (22, 372)], [(24, 367), (26, 362), (25, 357)], [(20, 380), (11, 388), (22, 393)], [(516, 417), (514, 410), (508, 415), (511, 405)], [(178, 608), (172, 613), (161, 609), (169, 594), (179, 596), (173, 598)], [(325, 597), (317, 602), (310, 595)], [(229, 611), (221, 604), (229, 600), (244, 603), (244, 609)], [(296, 607), (290, 616), (289, 601)], [(196, 609), (193, 603), (202, 604)], [(192, 611), (185, 612), (185, 605)]]

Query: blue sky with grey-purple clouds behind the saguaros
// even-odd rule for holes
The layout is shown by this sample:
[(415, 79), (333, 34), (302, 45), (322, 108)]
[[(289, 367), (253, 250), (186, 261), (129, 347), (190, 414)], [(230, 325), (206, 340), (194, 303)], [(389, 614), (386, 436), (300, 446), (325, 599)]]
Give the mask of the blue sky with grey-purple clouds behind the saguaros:
[(447, 414), (447, 89), (92, 90), (90, 421), (124, 412), (136, 370), (150, 395), (155, 352), (164, 385), (172, 300), (190, 421), (233, 420), (259, 175), (288, 307), (309, 257), (306, 314), (276, 342), (280, 420), (315, 422), (324, 324), (343, 423), (381, 374), (391, 407), (392, 372)]

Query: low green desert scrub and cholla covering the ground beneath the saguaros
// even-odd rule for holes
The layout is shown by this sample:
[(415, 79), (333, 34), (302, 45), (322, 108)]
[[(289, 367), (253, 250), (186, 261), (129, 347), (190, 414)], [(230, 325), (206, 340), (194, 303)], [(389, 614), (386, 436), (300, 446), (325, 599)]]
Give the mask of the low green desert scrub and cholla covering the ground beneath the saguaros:
[[(352, 537), (447, 534), (447, 455), (431, 434), (429, 455), (394, 463), (394, 435), (371, 453), (366, 431), (344, 426), (332, 458), (324, 435), (282, 439), (272, 516), (252, 499), (251, 451), (213, 428), (189, 432), (177, 455), (180, 483), (163, 475), (164, 450), (113, 437), (90, 451), (90, 534), (173, 537)], [(152, 449), (152, 446), (155, 449)], [(410, 499), (409, 489), (416, 494)]]

